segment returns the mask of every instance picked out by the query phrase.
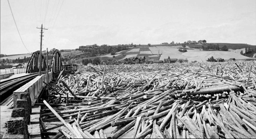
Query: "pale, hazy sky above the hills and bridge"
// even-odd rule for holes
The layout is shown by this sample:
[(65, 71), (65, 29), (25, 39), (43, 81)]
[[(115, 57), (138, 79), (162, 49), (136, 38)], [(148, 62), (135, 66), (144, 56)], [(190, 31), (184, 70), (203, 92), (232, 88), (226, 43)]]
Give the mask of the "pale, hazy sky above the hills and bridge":
[[(256, 45), (255, 0), (9, 0), (29, 52), (92, 44), (207, 40)], [(1, 54), (25, 54), (7, 0), (0, 1)]]

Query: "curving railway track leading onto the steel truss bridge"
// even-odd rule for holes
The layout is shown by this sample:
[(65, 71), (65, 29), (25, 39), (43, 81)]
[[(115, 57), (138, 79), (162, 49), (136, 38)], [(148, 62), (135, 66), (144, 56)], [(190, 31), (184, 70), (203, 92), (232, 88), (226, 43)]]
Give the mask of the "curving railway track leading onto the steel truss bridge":
[[(46, 73), (46, 71), (42, 72), (42, 74), (44, 73)], [(24, 84), (33, 80), (37, 76), (38, 72), (0, 82), (0, 105), (12, 106), (13, 91), (22, 87)]]

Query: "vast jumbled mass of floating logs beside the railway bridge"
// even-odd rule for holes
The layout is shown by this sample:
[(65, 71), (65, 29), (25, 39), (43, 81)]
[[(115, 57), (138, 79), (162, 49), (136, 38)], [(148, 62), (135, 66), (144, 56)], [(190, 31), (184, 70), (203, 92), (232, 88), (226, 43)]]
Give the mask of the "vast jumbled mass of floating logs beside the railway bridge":
[[(255, 138), (255, 61), (80, 65), (47, 84), (54, 138)], [(115, 127), (111, 133), (104, 129)]]

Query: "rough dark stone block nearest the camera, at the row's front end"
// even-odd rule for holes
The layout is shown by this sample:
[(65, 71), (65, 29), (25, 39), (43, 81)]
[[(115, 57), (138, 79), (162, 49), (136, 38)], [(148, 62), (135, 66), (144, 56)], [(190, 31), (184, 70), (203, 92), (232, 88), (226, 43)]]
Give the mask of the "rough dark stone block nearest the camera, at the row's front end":
[(8, 119), (7, 132), (9, 134), (22, 134), (25, 138), (28, 138), (28, 126), (24, 121), (24, 117)]

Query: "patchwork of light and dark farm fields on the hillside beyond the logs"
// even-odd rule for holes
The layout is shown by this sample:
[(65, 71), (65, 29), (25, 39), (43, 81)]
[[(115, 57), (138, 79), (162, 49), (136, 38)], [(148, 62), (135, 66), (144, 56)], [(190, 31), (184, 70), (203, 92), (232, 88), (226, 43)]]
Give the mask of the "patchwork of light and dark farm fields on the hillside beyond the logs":
[[(149, 58), (153, 58), (155, 60), (164, 60), (167, 59), (168, 56), (170, 58), (177, 58), (177, 59), (188, 59), (188, 61), (206, 61), (208, 58), (213, 56), (214, 58), (223, 58), (225, 60), (228, 60), (230, 58), (235, 58), (237, 60), (243, 60), (243, 59), (254, 59), (249, 58), (246, 56), (243, 56), (239, 52), (236, 52), (235, 50), (231, 51), (202, 51), (200, 49), (196, 48), (187, 48), (187, 52), (180, 52), (178, 51), (178, 48), (182, 46), (154, 46), (154, 47), (140, 47), (140, 48), (132, 48), (129, 50), (124, 50), (124, 54), (121, 54), (120, 52), (117, 52), (115, 55), (115, 58), (113, 58), (113, 55), (107, 54), (102, 56), (97, 56), (99, 59), (113, 59), (113, 60), (123, 60), (125, 58), (132, 58), (136, 56), (145, 56), (146, 60)], [(161, 56), (159, 55), (161, 54)], [(97, 57), (89, 57), (89, 58), (83, 58), (83, 59), (94, 59)], [(77, 62), (80, 62), (80, 60), (77, 60)]]

